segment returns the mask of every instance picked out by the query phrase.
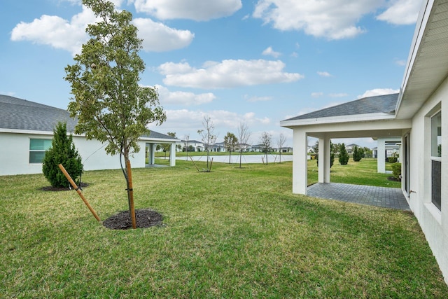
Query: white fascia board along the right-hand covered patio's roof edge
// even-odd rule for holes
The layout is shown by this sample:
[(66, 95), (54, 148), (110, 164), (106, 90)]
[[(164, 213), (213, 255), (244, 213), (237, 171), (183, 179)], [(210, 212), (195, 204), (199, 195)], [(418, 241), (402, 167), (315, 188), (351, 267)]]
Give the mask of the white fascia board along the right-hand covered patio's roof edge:
[(300, 125), (325, 125), (330, 123), (357, 123), (377, 120), (393, 120), (394, 114), (390, 113), (370, 113), (356, 114), (353, 116), (332, 116), (328, 118), (308, 118), (300, 120), (282, 120), (281, 127), (295, 127)]

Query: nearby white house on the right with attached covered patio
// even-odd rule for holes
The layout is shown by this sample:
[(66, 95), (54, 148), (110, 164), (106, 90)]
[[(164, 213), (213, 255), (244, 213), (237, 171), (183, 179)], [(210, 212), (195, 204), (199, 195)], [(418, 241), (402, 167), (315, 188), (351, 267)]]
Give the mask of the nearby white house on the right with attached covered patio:
[(400, 93), (314, 111), (281, 126), (293, 130), (293, 193), (300, 194), (307, 194), (307, 137), (319, 139), (319, 183), (330, 182), (330, 139), (401, 137), (402, 192), (448, 283), (447, 20), (448, 0), (423, 0)]

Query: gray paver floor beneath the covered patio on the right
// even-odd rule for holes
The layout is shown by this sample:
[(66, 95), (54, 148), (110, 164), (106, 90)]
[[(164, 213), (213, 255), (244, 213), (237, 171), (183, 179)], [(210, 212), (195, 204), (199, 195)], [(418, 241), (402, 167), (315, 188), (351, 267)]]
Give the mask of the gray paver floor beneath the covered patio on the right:
[(351, 185), (348, 183), (315, 183), (307, 195), (355, 204), (410, 211), (400, 188)]

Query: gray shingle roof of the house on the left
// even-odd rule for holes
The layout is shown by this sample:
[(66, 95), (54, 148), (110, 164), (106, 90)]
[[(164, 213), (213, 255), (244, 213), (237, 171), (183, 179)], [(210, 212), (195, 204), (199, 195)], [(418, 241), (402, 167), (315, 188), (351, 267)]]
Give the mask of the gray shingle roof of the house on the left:
[[(70, 117), (69, 111), (0, 95), (0, 129), (53, 132), (59, 121), (67, 123), (67, 132), (74, 132), (77, 120)], [(144, 137), (176, 140), (153, 130)]]

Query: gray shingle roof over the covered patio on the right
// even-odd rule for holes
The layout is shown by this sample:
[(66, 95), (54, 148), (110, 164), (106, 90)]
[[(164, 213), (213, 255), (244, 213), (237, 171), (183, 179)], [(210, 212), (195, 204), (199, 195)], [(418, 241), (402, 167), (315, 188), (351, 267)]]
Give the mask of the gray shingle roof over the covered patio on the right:
[(334, 116), (351, 116), (370, 113), (394, 113), (398, 101), (398, 93), (363, 97), (355, 101), (313, 111), (287, 120), (304, 120), (310, 118), (328, 118)]

